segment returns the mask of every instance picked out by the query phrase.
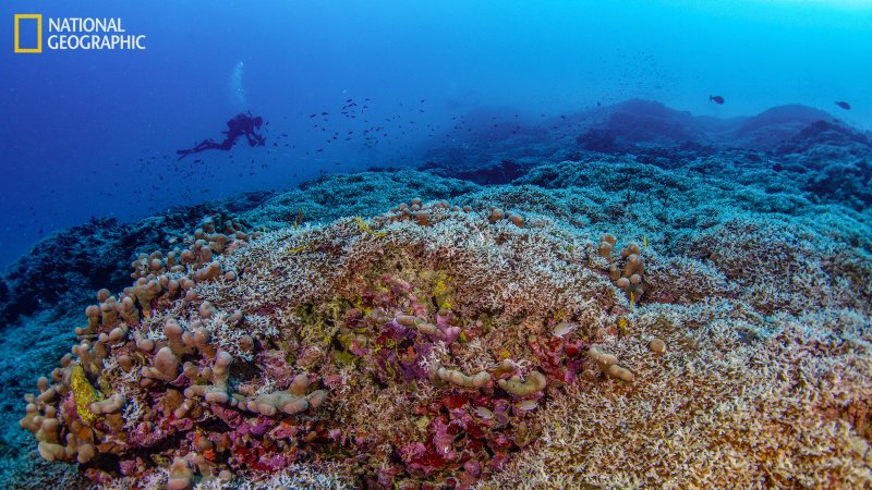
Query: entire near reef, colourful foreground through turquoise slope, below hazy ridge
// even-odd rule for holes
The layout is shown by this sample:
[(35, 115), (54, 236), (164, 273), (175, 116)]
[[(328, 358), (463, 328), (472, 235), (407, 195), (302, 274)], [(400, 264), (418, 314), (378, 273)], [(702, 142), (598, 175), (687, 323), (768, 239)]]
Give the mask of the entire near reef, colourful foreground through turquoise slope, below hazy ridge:
[(325, 176), (125, 246), (9, 326), (3, 485), (872, 485), (868, 210), (744, 154), (529, 169)]

